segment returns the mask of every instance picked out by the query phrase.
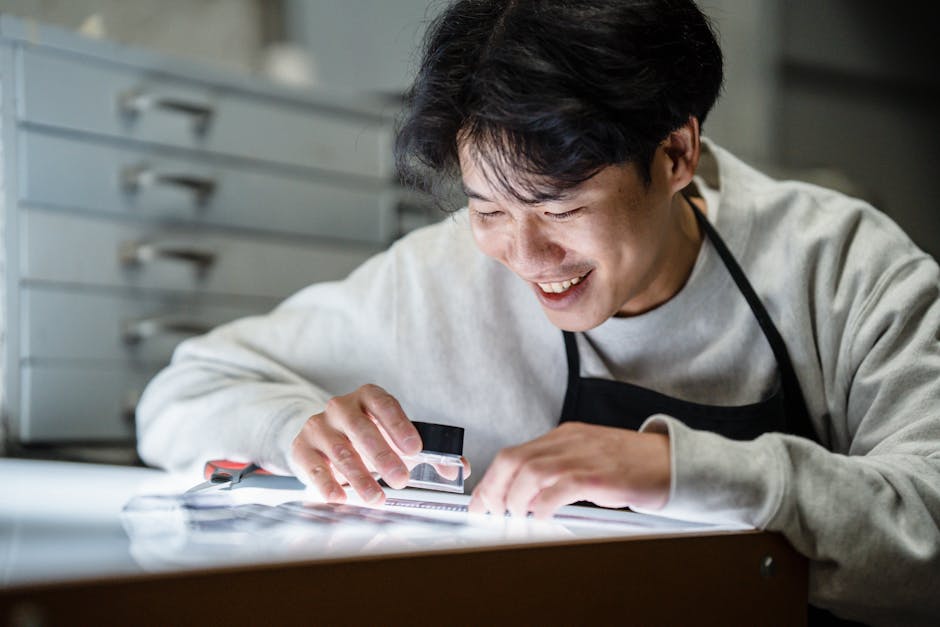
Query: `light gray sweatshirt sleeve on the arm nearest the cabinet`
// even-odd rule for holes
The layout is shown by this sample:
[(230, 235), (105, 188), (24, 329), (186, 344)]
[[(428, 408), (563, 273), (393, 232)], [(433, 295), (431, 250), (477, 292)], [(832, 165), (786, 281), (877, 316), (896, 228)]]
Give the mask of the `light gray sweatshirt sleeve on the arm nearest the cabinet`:
[(181, 343), (138, 405), (141, 458), (172, 470), (229, 458), (290, 473), (292, 440), (327, 400), (394, 385), (395, 268), (393, 248), (344, 281)]

